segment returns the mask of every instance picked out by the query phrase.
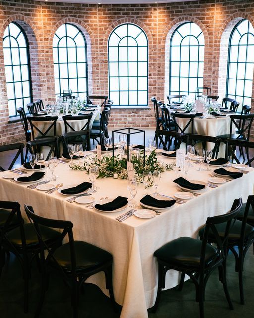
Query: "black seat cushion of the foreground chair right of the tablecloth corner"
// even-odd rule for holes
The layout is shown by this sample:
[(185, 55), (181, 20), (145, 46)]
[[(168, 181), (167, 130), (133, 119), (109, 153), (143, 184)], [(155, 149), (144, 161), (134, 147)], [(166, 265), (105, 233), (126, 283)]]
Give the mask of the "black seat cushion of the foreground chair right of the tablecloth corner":
[[(182, 237), (174, 239), (157, 249), (154, 256), (168, 264), (196, 268), (200, 266), (201, 247), (201, 240)], [(205, 264), (208, 265), (216, 255), (217, 249), (207, 244)]]

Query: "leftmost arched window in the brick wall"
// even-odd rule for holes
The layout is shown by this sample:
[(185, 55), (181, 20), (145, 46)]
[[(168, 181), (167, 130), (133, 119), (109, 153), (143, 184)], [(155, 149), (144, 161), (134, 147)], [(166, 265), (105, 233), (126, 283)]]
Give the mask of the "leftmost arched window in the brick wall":
[(3, 54), (7, 85), (9, 116), (17, 115), (17, 108), (32, 98), (28, 42), (19, 25), (11, 22), (3, 35)]

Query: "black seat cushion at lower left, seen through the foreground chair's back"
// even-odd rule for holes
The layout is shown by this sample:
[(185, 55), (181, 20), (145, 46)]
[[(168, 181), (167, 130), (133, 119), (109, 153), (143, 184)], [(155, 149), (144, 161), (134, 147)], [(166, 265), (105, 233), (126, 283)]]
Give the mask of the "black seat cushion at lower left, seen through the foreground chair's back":
[[(51, 228), (40, 226), (42, 239), (46, 241), (47, 244), (54, 242), (59, 236), (60, 232), (53, 230)], [(34, 228), (34, 225), (31, 223), (24, 224), (24, 232), (26, 238), (27, 247), (34, 248), (36, 245), (39, 245), (37, 234)], [(22, 242), (20, 237), (20, 230), (16, 228), (6, 235), (10, 242), (15, 245), (17, 248), (22, 248)]]

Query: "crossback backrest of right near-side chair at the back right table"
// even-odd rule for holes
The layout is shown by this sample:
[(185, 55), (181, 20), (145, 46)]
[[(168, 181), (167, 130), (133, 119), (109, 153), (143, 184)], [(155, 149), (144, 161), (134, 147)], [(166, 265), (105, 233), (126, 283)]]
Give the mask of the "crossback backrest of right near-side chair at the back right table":
[(239, 134), (237, 139), (249, 140), (253, 120), (254, 120), (254, 114), (231, 115), (230, 116), (229, 138), (231, 138), (231, 136), (232, 136), (232, 129), (233, 129), (233, 125), (234, 125), (236, 127), (236, 130), (238, 130), (238, 134)]

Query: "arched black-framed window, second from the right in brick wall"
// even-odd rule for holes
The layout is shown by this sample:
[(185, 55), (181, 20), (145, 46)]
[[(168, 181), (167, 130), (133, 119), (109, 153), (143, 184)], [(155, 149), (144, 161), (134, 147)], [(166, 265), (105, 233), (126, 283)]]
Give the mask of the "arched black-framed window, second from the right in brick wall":
[(204, 35), (192, 22), (181, 24), (170, 40), (170, 95), (194, 95), (203, 86)]

